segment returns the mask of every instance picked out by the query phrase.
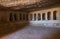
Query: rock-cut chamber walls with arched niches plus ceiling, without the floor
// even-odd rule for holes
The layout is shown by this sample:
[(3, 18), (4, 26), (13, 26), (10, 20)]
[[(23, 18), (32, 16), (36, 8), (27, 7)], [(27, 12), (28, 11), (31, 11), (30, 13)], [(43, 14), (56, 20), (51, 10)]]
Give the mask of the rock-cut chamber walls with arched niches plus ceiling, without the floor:
[(1, 36), (26, 26), (60, 28), (60, 0), (0, 0)]

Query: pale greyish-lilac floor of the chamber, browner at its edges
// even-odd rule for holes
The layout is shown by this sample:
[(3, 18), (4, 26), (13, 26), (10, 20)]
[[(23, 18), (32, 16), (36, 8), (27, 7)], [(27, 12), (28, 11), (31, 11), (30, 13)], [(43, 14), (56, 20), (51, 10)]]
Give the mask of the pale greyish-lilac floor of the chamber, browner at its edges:
[(60, 39), (60, 29), (26, 26), (0, 39)]

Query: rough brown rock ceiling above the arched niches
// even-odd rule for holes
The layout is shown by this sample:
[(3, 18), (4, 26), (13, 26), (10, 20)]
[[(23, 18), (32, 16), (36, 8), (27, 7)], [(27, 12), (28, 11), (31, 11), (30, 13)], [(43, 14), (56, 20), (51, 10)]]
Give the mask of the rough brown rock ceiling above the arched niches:
[(1, 9), (24, 10), (60, 4), (60, 0), (0, 0)]

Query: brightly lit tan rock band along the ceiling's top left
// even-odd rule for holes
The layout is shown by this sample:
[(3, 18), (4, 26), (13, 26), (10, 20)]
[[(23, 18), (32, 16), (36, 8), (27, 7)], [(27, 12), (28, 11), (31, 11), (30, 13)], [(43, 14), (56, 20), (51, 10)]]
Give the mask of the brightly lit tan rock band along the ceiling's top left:
[(5, 7), (33, 4), (41, 0), (0, 0), (0, 4)]

